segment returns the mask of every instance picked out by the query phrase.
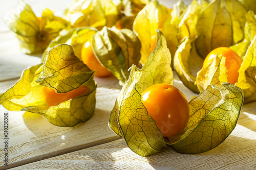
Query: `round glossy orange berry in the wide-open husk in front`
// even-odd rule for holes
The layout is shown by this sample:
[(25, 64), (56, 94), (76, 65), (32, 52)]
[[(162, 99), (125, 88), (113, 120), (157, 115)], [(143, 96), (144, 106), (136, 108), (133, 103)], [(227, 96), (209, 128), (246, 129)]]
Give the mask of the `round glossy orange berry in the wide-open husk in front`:
[(153, 85), (142, 92), (141, 101), (164, 137), (177, 135), (186, 127), (188, 102), (176, 87), (169, 84)]

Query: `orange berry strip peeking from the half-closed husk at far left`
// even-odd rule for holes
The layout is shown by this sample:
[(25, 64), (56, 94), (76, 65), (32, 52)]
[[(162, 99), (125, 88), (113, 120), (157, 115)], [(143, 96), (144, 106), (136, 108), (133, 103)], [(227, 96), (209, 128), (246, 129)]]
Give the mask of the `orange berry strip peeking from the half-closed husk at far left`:
[(42, 86), (42, 98), (49, 107), (57, 106), (62, 102), (75, 98), (78, 95), (87, 94), (88, 91), (89, 88), (87, 86), (80, 86), (67, 93), (57, 93), (53, 88)]

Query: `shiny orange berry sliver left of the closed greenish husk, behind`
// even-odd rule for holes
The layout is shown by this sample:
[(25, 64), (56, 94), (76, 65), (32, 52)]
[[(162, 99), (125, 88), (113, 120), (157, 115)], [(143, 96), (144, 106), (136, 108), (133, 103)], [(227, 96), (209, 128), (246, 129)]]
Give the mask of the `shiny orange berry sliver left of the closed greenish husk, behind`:
[(101, 65), (94, 55), (91, 41), (87, 41), (83, 44), (81, 49), (81, 60), (84, 64), (88, 65), (91, 70), (95, 71), (95, 76), (97, 77), (106, 77), (112, 74), (111, 71)]

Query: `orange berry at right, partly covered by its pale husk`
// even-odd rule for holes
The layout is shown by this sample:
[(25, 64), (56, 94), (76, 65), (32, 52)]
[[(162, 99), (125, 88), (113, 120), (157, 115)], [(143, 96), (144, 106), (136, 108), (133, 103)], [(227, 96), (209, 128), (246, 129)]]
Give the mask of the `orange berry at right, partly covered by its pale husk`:
[(239, 68), (243, 62), (241, 57), (231, 50), (229, 47), (218, 47), (212, 50), (204, 60), (203, 68), (207, 67), (214, 59), (213, 57), (218, 53), (222, 54), (226, 58), (225, 67), (227, 68), (228, 83), (235, 84), (238, 81)]

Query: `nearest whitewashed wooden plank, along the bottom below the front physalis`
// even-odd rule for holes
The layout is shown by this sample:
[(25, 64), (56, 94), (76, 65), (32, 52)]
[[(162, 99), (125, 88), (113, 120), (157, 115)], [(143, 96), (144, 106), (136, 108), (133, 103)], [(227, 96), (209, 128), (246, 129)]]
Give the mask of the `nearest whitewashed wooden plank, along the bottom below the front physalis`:
[(244, 105), (233, 132), (205, 153), (179, 154), (167, 148), (141, 157), (120, 139), (14, 169), (256, 169), (255, 104)]

